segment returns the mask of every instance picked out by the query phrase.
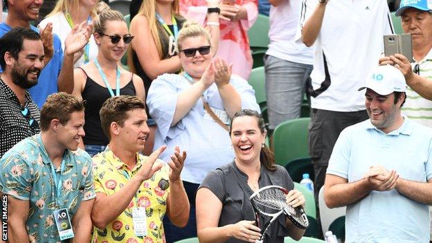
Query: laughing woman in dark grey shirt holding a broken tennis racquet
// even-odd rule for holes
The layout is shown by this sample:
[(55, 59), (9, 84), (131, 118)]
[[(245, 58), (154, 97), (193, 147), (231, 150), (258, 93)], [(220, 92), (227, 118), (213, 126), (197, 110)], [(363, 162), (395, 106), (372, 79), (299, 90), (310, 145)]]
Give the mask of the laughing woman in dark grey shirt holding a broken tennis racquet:
[[(264, 186), (289, 190), (286, 202), (294, 208), (305, 206), (305, 197), (294, 190), (294, 182), (285, 168), (275, 165), (274, 155), (264, 146), (267, 131), (256, 111), (238, 111), (231, 122), (231, 142), (235, 160), (209, 172), (199, 186), (196, 197), (199, 242), (255, 242), (261, 228), (255, 226), (255, 215), (249, 197)], [(259, 217), (261, 225), (269, 217)], [(262, 227), (262, 226), (261, 226)], [(267, 231), (264, 242), (284, 242), (285, 236), (299, 240), (304, 229), (280, 215)]]

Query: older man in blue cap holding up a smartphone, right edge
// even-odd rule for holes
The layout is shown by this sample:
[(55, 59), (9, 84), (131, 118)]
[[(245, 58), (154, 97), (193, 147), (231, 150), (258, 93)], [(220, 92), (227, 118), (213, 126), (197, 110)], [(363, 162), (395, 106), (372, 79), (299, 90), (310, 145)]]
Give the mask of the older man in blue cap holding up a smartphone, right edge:
[(404, 114), (412, 120), (432, 127), (432, 1), (403, 0), (396, 15), (401, 17), (404, 33), (413, 37), (413, 59), (402, 54), (382, 57), (381, 65), (396, 64), (408, 84)]

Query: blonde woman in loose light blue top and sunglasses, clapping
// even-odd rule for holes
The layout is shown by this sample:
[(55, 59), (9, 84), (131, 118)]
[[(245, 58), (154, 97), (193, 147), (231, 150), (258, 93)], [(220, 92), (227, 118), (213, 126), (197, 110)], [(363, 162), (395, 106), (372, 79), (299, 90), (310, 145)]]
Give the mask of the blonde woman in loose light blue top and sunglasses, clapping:
[[(231, 75), (231, 65), (219, 57), (212, 60), (210, 35), (202, 26), (183, 24), (177, 48), (183, 72), (160, 75), (152, 82), (147, 98), (158, 126), (154, 147), (165, 144), (170, 151), (179, 145), (188, 152), (181, 179), (190, 202), (189, 222), (180, 229), (170, 228), (165, 221), (167, 242), (197, 234), (195, 192), (199, 183), (207, 172), (234, 158), (226, 125), (240, 109), (260, 109), (252, 87)], [(168, 161), (169, 156), (163, 153), (161, 159)]]

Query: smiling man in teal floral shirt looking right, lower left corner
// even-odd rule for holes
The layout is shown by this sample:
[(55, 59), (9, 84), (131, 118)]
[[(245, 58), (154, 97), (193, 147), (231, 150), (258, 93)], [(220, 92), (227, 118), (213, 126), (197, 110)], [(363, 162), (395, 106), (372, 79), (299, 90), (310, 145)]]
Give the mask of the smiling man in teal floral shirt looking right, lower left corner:
[(91, 158), (78, 148), (83, 125), (82, 102), (55, 93), (42, 107), (42, 132), (17, 143), (1, 158), (9, 242), (60, 242), (53, 212), (62, 208), (68, 210), (75, 234), (70, 242), (89, 242), (95, 193)]

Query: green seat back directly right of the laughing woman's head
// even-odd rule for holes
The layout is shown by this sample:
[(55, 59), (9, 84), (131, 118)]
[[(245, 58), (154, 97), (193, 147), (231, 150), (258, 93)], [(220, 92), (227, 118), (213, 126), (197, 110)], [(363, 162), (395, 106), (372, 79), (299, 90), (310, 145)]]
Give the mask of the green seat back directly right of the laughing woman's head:
[(307, 126), (310, 118), (298, 118), (280, 123), (273, 132), (273, 151), (278, 165), (309, 156)]

